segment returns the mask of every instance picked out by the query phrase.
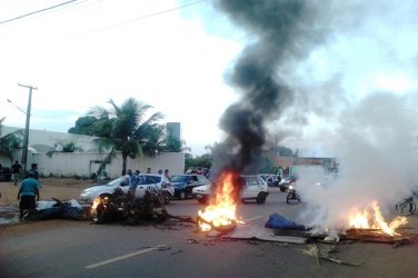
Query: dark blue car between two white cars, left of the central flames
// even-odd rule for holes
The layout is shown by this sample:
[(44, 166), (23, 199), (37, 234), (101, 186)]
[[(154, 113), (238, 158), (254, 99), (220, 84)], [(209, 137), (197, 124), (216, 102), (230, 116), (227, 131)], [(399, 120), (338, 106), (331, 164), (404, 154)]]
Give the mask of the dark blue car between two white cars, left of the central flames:
[(170, 177), (175, 187), (175, 196), (179, 200), (185, 200), (192, 196), (192, 189), (196, 187), (209, 185), (209, 180), (203, 175), (175, 175)]

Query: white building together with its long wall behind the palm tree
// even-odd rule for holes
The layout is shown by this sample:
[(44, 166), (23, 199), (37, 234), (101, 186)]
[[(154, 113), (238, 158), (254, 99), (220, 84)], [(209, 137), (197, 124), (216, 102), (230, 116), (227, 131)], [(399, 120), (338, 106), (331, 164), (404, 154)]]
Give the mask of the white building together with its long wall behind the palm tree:
[[(2, 126), (1, 136), (22, 130), (13, 127)], [(24, 130), (22, 130), (23, 132)], [(29, 130), (29, 152), (27, 165), (38, 163), (38, 170), (43, 176), (71, 177), (74, 175), (90, 177), (97, 172), (106, 153), (99, 153), (93, 139), (97, 137), (81, 136), (64, 132), (47, 130)], [(52, 156), (47, 153), (51, 150), (60, 151), (62, 145), (73, 142), (81, 150), (77, 152), (56, 152)], [(21, 160), (21, 150), (16, 151), (13, 161)], [(0, 163), (10, 166), (12, 161), (0, 155)], [(169, 169), (171, 175), (185, 172), (185, 153), (181, 152), (161, 152), (155, 157), (128, 158), (127, 168), (145, 172), (150, 167), (153, 172), (159, 169)], [(122, 159), (120, 156), (112, 159), (112, 162), (106, 166), (106, 171), (111, 178), (116, 178), (122, 172)]]

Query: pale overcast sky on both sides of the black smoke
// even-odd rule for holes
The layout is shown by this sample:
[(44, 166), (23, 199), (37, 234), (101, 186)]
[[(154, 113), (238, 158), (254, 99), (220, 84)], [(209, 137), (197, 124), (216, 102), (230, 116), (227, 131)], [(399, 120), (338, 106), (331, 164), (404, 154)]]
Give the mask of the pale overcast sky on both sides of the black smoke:
[[(80, 0), (4, 22), (62, 2), (0, 0), (4, 125), (24, 127), (26, 116), (7, 102), (26, 110), (29, 90), (22, 83), (38, 88), (33, 129), (67, 132), (89, 108), (135, 97), (162, 112), (165, 122), (181, 122), (195, 155), (222, 140), (219, 119), (241, 97), (225, 77), (257, 34), (229, 21), (210, 0)], [(377, 91), (405, 100), (390, 112), (418, 116), (418, 2), (320, 6), (320, 23), (330, 33), (303, 59), (278, 69), (298, 101), (269, 126), (271, 141), (308, 156), (332, 156), (326, 146), (339, 111)]]

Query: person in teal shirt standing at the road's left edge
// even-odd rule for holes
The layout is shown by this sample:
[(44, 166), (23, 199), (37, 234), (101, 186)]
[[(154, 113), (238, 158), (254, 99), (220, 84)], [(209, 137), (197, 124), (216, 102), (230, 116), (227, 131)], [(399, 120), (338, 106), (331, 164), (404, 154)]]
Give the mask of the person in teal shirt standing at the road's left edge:
[(37, 206), (36, 201), (39, 201), (39, 182), (34, 179), (32, 171), (28, 172), (28, 178), (22, 180), (18, 192), (19, 200), (19, 219), (23, 219), (24, 210), (33, 210)]

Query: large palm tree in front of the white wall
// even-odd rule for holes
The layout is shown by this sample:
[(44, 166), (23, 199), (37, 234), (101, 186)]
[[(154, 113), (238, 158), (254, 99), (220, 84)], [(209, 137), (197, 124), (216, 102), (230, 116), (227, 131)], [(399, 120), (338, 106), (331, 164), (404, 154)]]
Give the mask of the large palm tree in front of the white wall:
[(128, 157), (135, 159), (137, 156), (143, 155), (142, 145), (147, 142), (150, 130), (158, 126), (156, 122), (163, 117), (160, 112), (156, 112), (145, 120), (146, 112), (152, 107), (141, 103), (135, 98), (127, 99), (120, 107), (112, 99), (109, 100), (109, 103), (111, 105), (110, 110), (96, 107), (90, 111), (91, 116), (98, 118), (94, 123), (97, 135), (102, 136), (94, 140), (99, 151), (109, 151), (99, 172), (104, 162), (111, 161), (117, 153), (121, 153), (122, 175), (125, 175)]

